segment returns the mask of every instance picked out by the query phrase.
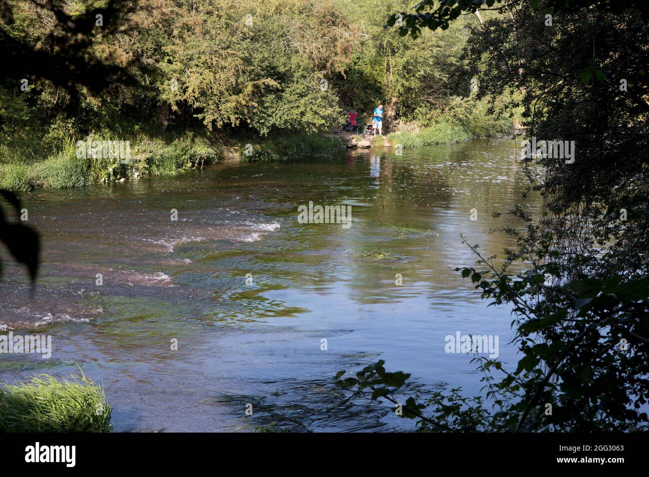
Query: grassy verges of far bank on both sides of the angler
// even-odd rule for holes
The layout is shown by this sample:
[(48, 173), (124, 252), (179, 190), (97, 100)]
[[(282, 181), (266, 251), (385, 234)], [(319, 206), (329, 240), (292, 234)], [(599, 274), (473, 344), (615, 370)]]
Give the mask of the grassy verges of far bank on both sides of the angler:
[[(376, 136), (373, 146), (382, 147), (384, 141), (404, 148), (442, 145), (511, 132), (511, 119), (489, 116), (486, 108), (484, 101), (459, 103), (421, 123), (399, 124), (395, 132)], [(344, 147), (341, 138), (320, 134), (216, 138), (204, 129), (177, 134), (155, 134), (153, 130), (117, 123), (115, 130), (95, 132), (88, 138), (57, 123), (42, 134), (5, 136), (0, 139), (0, 189), (79, 187), (125, 178), (173, 175), (191, 167), (215, 164), (227, 156), (282, 160), (307, 154), (333, 154)], [(120, 158), (109, 158), (106, 154), (79, 154), (77, 141), (89, 140), (128, 141), (128, 162), (123, 164)]]

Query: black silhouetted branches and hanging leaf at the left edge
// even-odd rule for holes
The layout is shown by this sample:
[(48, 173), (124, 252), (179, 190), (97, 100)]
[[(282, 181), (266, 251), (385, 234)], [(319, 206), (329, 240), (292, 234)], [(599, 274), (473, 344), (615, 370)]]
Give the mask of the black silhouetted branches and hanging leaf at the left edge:
[[(111, 84), (134, 84), (132, 76), (123, 67), (107, 64), (92, 51), (97, 39), (97, 22), (108, 34), (119, 30), (116, 19), (128, 12), (136, 3), (110, 0), (104, 8), (89, 8), (81, 14), (66, 11), (62, 0), (45, 0), (42, 3), (31, 0), (34, 8), (45, 10), (55, 22), (55, 27), (47, 36), (44, 47), (16, 38), (18, 27), (14, 17), (14, 2), (0, 1), (0, 47), (7, 53), (3, 60), (2, 84), (19, 84), (21, 79), (45, 79), (64, 88), (72, 103), (79, 101), (82, 85), (90, 92), (103, 92)], [(93, 33), (94, 32), (94, 33)], [(10, 191), (0, 190), (0, 195), (16, 210), (18, 223), (8, 221), (0, 207), (0, 241), (20, 263), (27, 266), (29, 276), (34, 282), (38, 273), (40, 239), (29, 226), (19, 223), (21, 202)], [(1, 263), (0, 263), (1, 272)]]

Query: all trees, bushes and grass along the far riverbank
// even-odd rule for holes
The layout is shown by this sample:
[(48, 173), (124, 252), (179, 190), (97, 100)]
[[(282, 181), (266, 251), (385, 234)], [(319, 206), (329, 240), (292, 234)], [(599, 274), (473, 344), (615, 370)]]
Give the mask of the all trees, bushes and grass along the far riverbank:
[[(75, 23), (93, 17), (92, 5), (46, 4), (51, 10), (11, 0), (0, 18), (3, 38), (25, 55), (69, 49), (43, 59), (60, 63), (55, 71), (32, 62), (0, 78), (0, 185), (10, 190), (174, 173), (214, 162), (232, 142), (258, 144), (256, 159), (328, 153), (332, 141), (302, 138), (341, 125), (352, 107), (367, 120), (380, 102), (386, 132), (409, 121), (424, 127), (412, 145), (506, 130), (468, 96), (459, 53), (473, 20), (403, 38), (384, 22), (404, 0), (117, 2), (123, 11), (101, 35), (92, 22)], [(80, 58), (110, 82), (86, 77)], [(129, 140), (134, 162), (76, 160), (72, 145), (88, 134)]]

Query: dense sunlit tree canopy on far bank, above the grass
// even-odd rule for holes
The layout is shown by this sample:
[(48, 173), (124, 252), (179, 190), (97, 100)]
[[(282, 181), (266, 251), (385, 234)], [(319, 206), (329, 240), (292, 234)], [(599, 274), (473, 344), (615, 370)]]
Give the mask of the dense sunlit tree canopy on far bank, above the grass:
[[(38, 123), (49, 151), (77, 133), (128, 132), (153, 118), (162, 130), (204, 125), (214, 134), (268, 135), (326, 130), (347, 108), (369, 114), (378, 102), (389, 105), (388, 122), (421, 125), (474, 109), (462, 100), (470, 78), (459, 53), (464, 25), (477, 19), (415, 41), (384, 29), (403, 0), (45, 5), (3, 1), (3, 41), (34, 59), (62, 60), (36, 69), (12, 63), (0, 84), (0, 127), (16, 134)], [(74, 29), (56, 21), (62, 16)], [(75, 80), (86, 71), (93, 81)]]

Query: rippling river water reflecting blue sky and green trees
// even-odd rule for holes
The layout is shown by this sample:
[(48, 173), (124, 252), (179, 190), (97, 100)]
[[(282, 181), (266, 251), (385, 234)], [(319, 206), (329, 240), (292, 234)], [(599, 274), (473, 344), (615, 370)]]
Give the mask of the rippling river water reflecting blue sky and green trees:
[[(43, 264), (32, 292), (3, 255), (0, 330), (49, 334), (53, 354), (0, 355), (0, 381), (78, 363), (103, 383), (115, 430), (143, 432), (250, 430), (215, 397), (378, 357), (477, 393), (471, 356), (445, 352), (445, 336), (498, 335), (512, 362), (511, 315), (453, 271), (476, 260), (460, 235), (502, 256), (512, 240), (489, 229), (520, 227), (516, 204), (537, 209), (525, 188), (513, 141), (479, 140), (25, 193)], [(310, 201), (350, 205), (351, 226), (299, 223)]]

